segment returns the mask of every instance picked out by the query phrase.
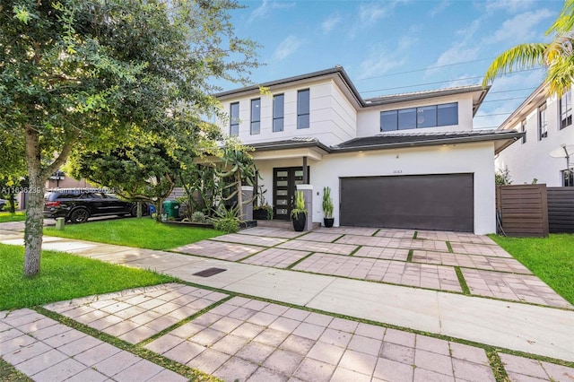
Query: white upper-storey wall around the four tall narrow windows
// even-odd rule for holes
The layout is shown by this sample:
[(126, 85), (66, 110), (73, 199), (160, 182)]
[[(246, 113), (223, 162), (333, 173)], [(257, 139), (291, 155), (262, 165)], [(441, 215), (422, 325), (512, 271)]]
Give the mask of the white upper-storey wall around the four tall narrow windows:
[[(297, 128), (297, 91), (309, 89), (309, 128)], [(246, 144), (282, 141), (294, 137), (317, 138), (326, 145), (335, 145), (354, 138), (357, 111), (334, 81), (302, 84), (297, 87), (274, 88), (272, 94), (284, 94), (283, 132), (273, 132), (273, 99), (266, 95), (222, 102), (222, 109), (230, 114), (230, 104), (239, 101), (239, 139)], [(261, 131), (250, 134), (251, 100), (261, 99)], [(219, 122), (225, 134), (230, 133), (230, 122)]]

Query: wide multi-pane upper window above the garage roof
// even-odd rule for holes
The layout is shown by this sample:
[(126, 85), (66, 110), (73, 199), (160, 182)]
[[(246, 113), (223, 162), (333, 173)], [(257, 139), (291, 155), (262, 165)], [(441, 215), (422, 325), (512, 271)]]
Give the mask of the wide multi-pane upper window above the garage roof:
[(380, 131), (458, 125), (458, 103), (380, 112)]

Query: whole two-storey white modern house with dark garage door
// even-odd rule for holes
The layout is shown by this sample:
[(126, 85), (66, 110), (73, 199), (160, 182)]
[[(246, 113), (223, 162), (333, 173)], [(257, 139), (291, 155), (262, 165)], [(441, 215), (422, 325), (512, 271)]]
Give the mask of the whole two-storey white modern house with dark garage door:
[(465, 86), (363, 100), (340, 66), (216, 94), (222, 129), (255, 148), (289, 219), (296, 185), (313, 187), (312, 221), (331, 187), (335, 225), (496, 231), (494, 155), (522, 135), (473, 131), (487, 91)]

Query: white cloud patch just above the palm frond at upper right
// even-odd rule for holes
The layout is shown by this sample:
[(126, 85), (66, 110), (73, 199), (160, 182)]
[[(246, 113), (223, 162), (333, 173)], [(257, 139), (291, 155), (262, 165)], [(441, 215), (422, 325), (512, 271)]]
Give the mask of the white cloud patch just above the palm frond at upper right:
[(505, 21), (485, 42), (489, 44), (499, 44), (500, 42), (510, 42), (514, 44), (534, 42), (541, 40), (537, 36), (535, 27), (544, 20), (551, 18), (553, 14), (547, 9), (535, 12), (520, 13)]

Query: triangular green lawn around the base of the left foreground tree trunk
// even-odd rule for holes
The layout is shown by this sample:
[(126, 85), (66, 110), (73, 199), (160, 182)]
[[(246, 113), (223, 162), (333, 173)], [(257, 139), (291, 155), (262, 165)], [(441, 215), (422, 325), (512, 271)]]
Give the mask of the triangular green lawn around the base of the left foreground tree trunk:
[(24, 248), (0, 244), (0, 310), (122, 291), (174, 278), (62, 252), (42, 251), (39, 276), (22, 276)]

